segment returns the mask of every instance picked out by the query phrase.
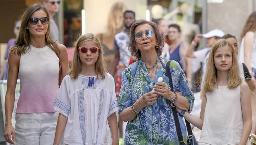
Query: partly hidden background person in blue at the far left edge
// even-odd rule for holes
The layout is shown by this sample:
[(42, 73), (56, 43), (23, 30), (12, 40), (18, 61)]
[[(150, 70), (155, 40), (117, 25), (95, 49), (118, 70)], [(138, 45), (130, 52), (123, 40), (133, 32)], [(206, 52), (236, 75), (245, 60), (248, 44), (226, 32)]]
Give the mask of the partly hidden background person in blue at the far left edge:
[(19, 36), (19, 29), (20, 29), (20, 20), (16, 20), (14, 22), (14, 29), (13, 29), (15, 38), (10, 39), (7, 43), (6, 52), (5, 52), (5, 56), (4, 56), (5, 61), (3, 62), (2, 67), (1, 67), (0, 79), (7, 79), (8, 67), (9, 67), (8, 66), (9, 49), (15, 45), (17, 38)]

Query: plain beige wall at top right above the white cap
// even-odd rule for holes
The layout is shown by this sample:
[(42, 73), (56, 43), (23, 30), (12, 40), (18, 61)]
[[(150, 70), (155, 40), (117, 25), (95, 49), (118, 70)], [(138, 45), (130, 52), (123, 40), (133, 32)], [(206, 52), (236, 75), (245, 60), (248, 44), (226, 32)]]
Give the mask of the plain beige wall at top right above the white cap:
[(240, 42), (240, 34), (247, 17), (253, 12), (253, 0), (224, 0), (223, 3), (208, 3), (207, 30), (221, 29)]

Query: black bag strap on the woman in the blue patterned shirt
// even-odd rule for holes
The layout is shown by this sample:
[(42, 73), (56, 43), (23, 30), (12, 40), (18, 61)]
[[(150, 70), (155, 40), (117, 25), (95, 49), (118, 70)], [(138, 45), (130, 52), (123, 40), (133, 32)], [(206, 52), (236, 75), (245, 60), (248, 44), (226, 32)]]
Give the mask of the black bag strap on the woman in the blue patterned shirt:
[[(173, 84), (172, 84), (172, 76), (171, 76), (171, 71), (170, 71), (170, 61), (167, 62), (166, 64), (166, 74), (169, 77), (169, 84), (171, 87), (171, 91), (173, 91)], [(178, 135), (178, 139), (179, 139), (179, 143), (184, 143), (183, 137), (182, 137), (182, 132), (181, 132), (181, 127), (180, 127), (180, 122), (179, 122), (179, 118), (178, 118), (178, 114), (177, 114), (177, 110), (176, 107), (173, 105), (172, 106), (172, 113), (173, 113), (173, 117), (174, 117), (174, 122), (175, 122), (175, 127), (176, 127), (176, 131), (177, 131), (177, 135)], [(193, 135), (193, 132), (191, 130), (191, 126), (190, 123), (185, 119), (186, 122), (186, 126), (187, 126), (187, 131), (188, 131), (188, 136)]]

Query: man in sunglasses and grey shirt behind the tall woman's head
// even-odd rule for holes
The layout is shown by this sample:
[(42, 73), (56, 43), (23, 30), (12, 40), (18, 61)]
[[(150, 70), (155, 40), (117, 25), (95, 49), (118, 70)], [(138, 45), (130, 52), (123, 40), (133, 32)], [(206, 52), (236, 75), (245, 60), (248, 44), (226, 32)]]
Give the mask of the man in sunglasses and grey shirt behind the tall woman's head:
[(50, 34), (54, 41), (59, 42), (59, 28), (56, 25), (54, 16), (59, 11), (60, 0), (43, 0), (42, 4), (45, 6), (49, 13), (49, 23), (51, 25)]

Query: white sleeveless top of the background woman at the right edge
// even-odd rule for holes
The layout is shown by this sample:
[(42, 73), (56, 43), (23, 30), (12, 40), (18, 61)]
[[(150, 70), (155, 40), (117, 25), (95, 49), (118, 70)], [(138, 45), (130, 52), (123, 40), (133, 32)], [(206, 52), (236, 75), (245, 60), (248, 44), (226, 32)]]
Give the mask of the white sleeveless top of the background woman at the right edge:
[[(252, 68), (256, 68), (256, 57), (255, 57), (256, 56), (256, 43), (255, 42), (256, 42), (256, 38), (254, 38), (253, 47), (250, 52), (250, 57), (251, 57), (250, 63), (251, 63)], [(241, 46), (240, 46), (240, 49), (238, 52), (238, 61), (244, 63), (244, 37), (241, 41)]]

